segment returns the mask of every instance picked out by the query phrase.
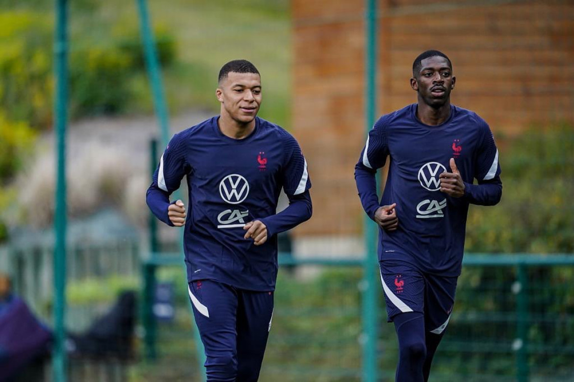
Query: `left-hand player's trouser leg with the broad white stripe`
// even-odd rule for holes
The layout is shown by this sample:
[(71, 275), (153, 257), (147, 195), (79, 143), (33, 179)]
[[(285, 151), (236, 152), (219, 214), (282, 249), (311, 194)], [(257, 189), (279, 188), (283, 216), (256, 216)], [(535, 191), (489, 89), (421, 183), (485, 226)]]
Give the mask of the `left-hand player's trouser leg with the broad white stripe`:
[(208, 382), (235, 382), (237, 352), (235, 332), (236, 291), (213, 280), (189, 283), (195, 323), (205, 348)]

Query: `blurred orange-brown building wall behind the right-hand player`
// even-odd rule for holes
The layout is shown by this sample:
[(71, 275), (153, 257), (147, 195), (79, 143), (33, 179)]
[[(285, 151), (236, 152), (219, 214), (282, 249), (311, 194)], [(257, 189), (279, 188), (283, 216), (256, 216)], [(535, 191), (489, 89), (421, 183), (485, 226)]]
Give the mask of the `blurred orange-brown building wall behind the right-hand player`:
[[(416, 102), (414, 58), (446, 53), (451, 99), (495, 135), (574, 124), (574, 2), (379, 1), (378, 115)], [(293, 0), (293, 129), (313, 181), (303, 235), (354, 234), (354, 165), (364, 145), (364, 1)]]

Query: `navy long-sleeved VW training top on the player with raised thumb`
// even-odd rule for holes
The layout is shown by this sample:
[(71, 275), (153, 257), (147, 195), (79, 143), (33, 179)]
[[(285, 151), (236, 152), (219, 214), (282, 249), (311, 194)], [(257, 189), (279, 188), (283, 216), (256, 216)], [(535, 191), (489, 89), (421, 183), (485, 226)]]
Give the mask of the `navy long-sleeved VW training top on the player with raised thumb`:
[[(379, 228), (379, 261), (399, 260), (425, 272), (457, 276), (468, 205), (494, 205), (501, 198), (498, 149), (488, 124), (472, 111), (451, 106), (451, 115), (439, 126), (420, 122), (416, 111), (417, 104), (411, 104), (377, 120), (355, 166), (355, 181), (371, 219), (379, 206), (397, 204), (397, 230)], [(379, 201), (375, 173), (387, 157), (389, 173)], [(439, 190), (439, 175), (452, 172), (451, 158), (466, 188), (460, 198)]]

